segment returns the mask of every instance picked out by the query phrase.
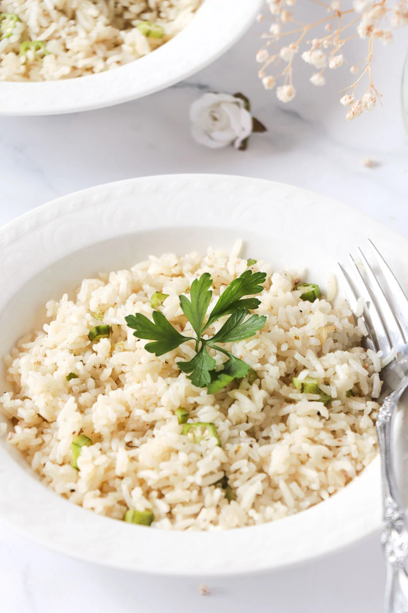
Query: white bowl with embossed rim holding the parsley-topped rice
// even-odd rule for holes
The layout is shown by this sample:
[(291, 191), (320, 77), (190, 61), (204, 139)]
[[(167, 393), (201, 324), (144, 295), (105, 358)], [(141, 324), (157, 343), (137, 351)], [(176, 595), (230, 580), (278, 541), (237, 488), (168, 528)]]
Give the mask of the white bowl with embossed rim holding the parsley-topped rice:
[[(97, 224), (95, 224), (97, 220)], [(0, 354), (44, 321), (45, 302), (98, 271), (147, 254), (230, 248), (276, 268), (307, 266), (325, 286), (336, 261), (373, 239), (408, 287), (404, 238), (357, 210), (280, 183), (214, 175), (140, 178), (54, 200), (0, 230)], [(0, 390), (4, 390), (4, 369)], [(74, 506), (33, 477), (0, 443), (0, 519), (74, 557), (171, 575), (283, 568), (353, 543), (380, 525), (378, 459), (328, 501), (272, 524), (223, 532), (160, 531)]]

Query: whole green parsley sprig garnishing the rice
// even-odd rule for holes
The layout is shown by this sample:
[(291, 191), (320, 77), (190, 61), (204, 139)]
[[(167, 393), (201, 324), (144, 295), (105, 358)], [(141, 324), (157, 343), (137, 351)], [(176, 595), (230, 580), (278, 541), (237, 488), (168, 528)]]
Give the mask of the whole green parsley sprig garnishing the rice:
[[(223, 294), (221, 294), (215, 307), (210, 312), (207, 321), (207, 309), (209, 307), (212, 290), (212, 278), (209, 273), (204, 273), (199, 279), (191, 283), (190, 300), (184, 295), (180, 296), (180, 307), (190, 321), (196, 336), (185, 337), (169, 323), (163, 313), (155, 311), (153, 321), (150, 321), (141, 313), (128, 315), (125, 319), (127, 325), (134, 329), (136, 338), (144, 338), (149, 341), (145, 349), (156, 356), (176, 349), (182, 343), (195, 340), (196, 355), (189, 362), (177, 362), (177, 366), (183, 373), (189, 375), (191, 383), (197, 387), (207, 387), (209, 394), (219, 392), (228, 385), (232, 379), (243, 378), (251, 370), (250, 365), (243, 362), (229, 351), (220, 347), (217, 343), (236, 343), (253, 337), (253, 335), (265, 326), (266, 317), (250, 315), (250, 310), (260, 305), (258, 298), (248, 298), (262, 291), (262, 283), (265, 282), (266, 273), (245, 270), (237, 279), (234, 279)], [(221, 326), (220, 330), (211, 338), (203, 338), (204, 332), (215, 321), (229, 315), (230, 317)], [(250, 317), (248, 317), (250, 315)], [(223, 370), (215, 370), (215, 359), (210, 356), (208, 349), (217, 349), (228, 356), (223, 365)]]

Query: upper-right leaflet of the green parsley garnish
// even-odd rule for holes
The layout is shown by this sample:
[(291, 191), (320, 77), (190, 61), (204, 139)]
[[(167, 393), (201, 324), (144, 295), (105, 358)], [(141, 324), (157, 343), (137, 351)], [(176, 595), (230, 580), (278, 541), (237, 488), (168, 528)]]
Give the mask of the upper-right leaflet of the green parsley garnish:
[(266, 279), (265, 272), (255, 272), (252, 270), (245, 270), (237, 279), (234, 279), (228, 287), (226, 287), (223, 294), (218, 299), (217, 304), (210, 313), (206, 326), (202, 330), (207, 329), (213, 322), (228, 315), (234, 313), (238, 309), (254, 309), (258, 308), (260, 302), (256, 298), (247, 298), (241, 300), (243, 296), (251, 294), (259, 294), (264, 289), (261, 283), (264, 283)]

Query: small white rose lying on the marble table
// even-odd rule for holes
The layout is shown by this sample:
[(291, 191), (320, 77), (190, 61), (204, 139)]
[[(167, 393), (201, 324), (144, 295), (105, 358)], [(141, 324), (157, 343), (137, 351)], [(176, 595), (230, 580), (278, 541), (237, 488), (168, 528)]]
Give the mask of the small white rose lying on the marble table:
[(212, 149), (242, 142), (252, 134), (252, 116), (240, 98), (229, 94), (204, 94), (190, 107), (191, 134), (200, 145)]

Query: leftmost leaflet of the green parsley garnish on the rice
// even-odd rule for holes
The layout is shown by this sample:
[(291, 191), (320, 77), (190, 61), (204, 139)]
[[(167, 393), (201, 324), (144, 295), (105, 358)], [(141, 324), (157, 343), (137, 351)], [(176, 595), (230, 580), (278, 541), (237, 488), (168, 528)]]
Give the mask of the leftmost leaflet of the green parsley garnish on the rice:
[(160, 311), (154, 311), (153, 321), (150, 321), (141, 313), (128, 315), (125, 319), (127, 325), (136, 330), (136, 332), (133, 332), (135, 337), (156, 341), (155, 343), (147, 343), (145, 346), (146, 351), (154, 353), (156, 356), (163, 356), (163, 354), (176, 349), (176, 347), (191, 339), (191, 337), (184, 337), (177, 332)]

